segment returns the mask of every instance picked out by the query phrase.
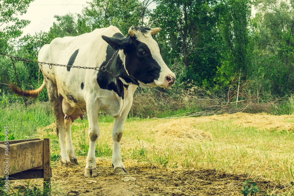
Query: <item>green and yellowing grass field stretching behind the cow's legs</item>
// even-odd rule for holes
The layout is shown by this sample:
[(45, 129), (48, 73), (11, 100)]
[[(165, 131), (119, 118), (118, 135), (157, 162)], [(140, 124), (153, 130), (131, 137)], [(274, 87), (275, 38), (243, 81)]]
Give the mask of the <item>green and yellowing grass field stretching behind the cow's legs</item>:
[[(217, 118), (187, 118), (193, 119), (195, 129), (212, 134), (212, 139), (204, 140), (159, 136), (155, 127), (161, 127), (171, 120), (128, 118), (121, 139), (122, 158), (154, 162), (164, 167), (241, 172), (247, 173), (250, 179), (266, 177), (276, 183), (290, 184), (294, 180), (293, 133), (243, 126), (232, 118)], [(293, 123), (291, 119), (286, 121)], [(54, 116), (47, 103), (36, 103), (28, 108), (17, 105), (0, 107), (0, 136), (4, 133), (4, 126), (8, 125), (15, 139), (49, 137), (51, 165), (55, 167), (60, 148), (55, 130), (48, 126), (52, 123)], [(99, 115), (100, 138), (96, 144), (96, 157), (111, 159), (112, 125), (113, 117)], [(181, 126), (177, 129), (181, 129)], [(76, 154), (86, 156), (89, 145), (86, 118), (73, 123), (72, 140)]]

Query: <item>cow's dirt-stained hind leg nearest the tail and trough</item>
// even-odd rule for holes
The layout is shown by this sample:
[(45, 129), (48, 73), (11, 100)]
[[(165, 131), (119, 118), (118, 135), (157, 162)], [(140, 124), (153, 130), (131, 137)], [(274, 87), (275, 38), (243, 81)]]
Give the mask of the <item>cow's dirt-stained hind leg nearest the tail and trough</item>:
[[(44, 78), (45, 79), (45, 78)], [(62, 113), (62, 96), (58, 94), (57, 86), (52, 81), (46, 81), (46, 87), (48, 92), (48, 97), (54, 112), (54, 116), (56, 119), (56, 132), (59, 137), (60, 143), (60, 156), (61, 156), (61, 165), (63, 167), (71, 166), (71, 161), (69, 159), (69, 155), (66, 151), (65, 146), (65, 124), (64, 124), (64, 116)]]

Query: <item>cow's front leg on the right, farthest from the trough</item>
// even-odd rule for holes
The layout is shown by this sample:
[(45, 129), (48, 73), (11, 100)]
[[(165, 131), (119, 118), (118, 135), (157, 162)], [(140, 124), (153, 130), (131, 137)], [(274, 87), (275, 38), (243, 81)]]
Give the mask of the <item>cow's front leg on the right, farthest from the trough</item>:
[(123, 136), (123, 124), (126, 121), (128, 112), (132, 106), (132, 101), (126, 106), (121, 116), (114, 119), (112, 128), (113, 153), (112, 153), (112, 167), (113, 172), (120, 175), (128, 175), (129, 172), (123, 165), (121, 160), (121, 137)]

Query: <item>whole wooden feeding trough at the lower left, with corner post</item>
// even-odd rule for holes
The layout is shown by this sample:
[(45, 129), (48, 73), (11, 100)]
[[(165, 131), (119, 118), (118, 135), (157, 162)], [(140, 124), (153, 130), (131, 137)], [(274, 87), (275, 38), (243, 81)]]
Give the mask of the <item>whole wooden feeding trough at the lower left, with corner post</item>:
[(0, 159), (0, 178), (6, 181), (44, 178), (44, 189), (50, 188), (49, 138), (0, 141)]

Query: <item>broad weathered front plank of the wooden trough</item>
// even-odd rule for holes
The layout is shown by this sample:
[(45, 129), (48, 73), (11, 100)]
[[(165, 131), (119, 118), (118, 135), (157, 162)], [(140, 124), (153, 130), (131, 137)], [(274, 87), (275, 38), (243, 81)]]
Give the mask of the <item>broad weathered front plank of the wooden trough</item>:
[[(43, 165), (43, 140), (24, 141), (12, 144), (9, 141), (8, 155), (5, 154), (5, 145), (0, 144), (0, 159), (8, 160), (9, 175), (22, 172)], [(0, 177), (4, 177), (7, 163), (0, 162)]]

